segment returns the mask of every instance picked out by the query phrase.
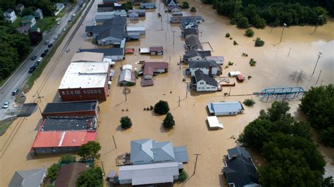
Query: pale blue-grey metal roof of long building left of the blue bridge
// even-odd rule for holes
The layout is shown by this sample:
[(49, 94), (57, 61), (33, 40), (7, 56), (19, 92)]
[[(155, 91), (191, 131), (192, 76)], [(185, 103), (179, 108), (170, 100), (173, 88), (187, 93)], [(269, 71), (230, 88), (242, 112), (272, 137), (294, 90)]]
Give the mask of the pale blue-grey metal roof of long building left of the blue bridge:
[(242, 106), (240, 101), (209, 103), (207, 107), (210, 113), (239, 112), (240, 110), (244, 110), (244, 107)]

